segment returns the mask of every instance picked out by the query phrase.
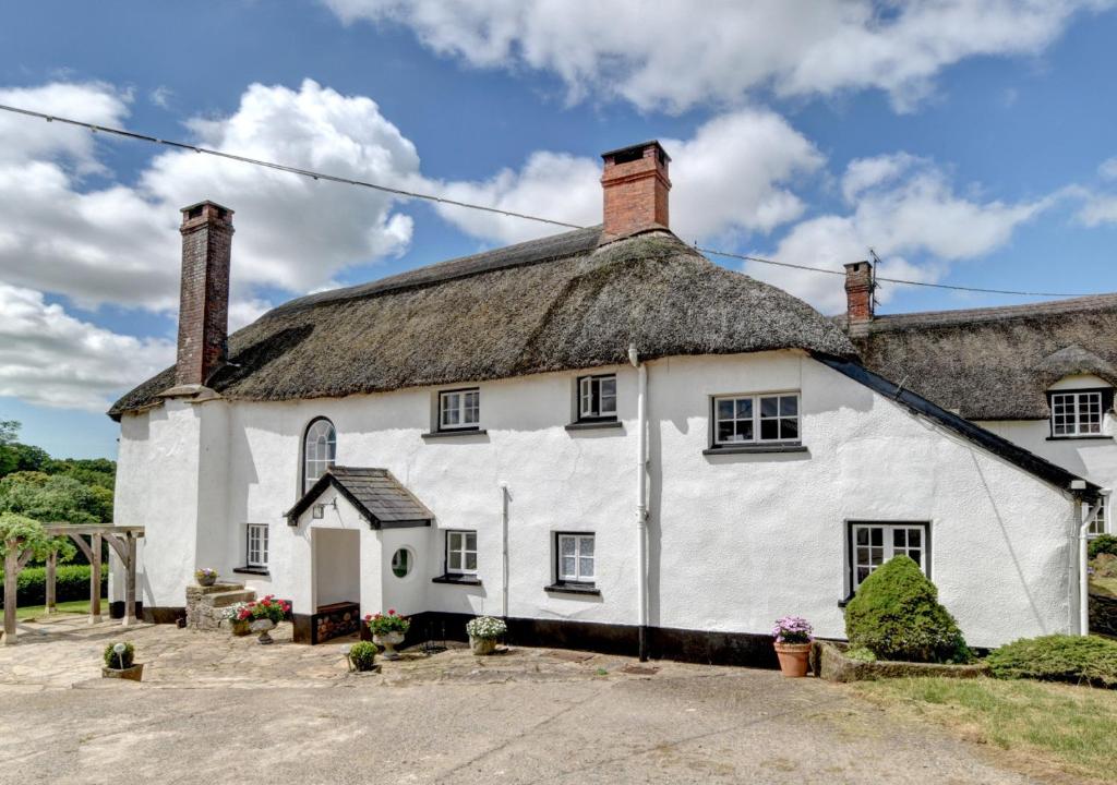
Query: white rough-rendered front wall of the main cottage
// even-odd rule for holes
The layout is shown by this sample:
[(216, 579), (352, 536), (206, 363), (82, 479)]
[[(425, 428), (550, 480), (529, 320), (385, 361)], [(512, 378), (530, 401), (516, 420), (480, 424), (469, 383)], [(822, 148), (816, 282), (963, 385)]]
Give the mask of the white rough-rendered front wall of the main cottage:
[[(311, 613), (307, 528), (355, 526), (362, 612), (499, 614), (505, 480), (509, 615), (633, 624), (636, 372), (617, 373), (623, 428), (614, 430), (563, 428), (576, 373), (480, 384), (487, 433), (454, 439), (421, 438), (431, 429), (431, 389), (232, 403), (226, 551), (213, 566), (228, 573), (241, 564), (244, 525), (269, 524), (271, 575), (259, 586)], [(806, 453), (703, 454), (710, 395), (786, 390), (802, 391)], [(766, 633), (777, 616), (798, 613), (818, 634), (842, 636), (847, 521), (858, 519), (930, 523), (933, 577), (971, 643), (1072, 629), (1070, 500), (802, 353), (655, 361), (649, 415), (651, 624)], [(315, 417), (336, 427), (338, 463), (391, 470), (435, 513), (436, 526), (373, 532), (344, 514), (323, 521), (306, 520), (307, 513), (288, 527), (283, 514), (297, 498), (302, 434)], [(145, 506), (147, 465), (124, 460), (140, 450), (128, 443), (134, 430), (122, 429), (117, 504), (139, 521), (154, 510)], [(445, 530), (452, 528), (477, 530), (481, 586), (430, 583), (442, 572)], [(567, 530), (596, 535), (600, 597), (544, 591), (554, 578), (553, 534)], [(401, 543), (418, 557), (402, 581), (390, 571)], [(174, 542), (152, 545), (152, 573), (181, 561)], [(156, 604), (181, 603), (173, 575), (164, 582), (168, 599)]]

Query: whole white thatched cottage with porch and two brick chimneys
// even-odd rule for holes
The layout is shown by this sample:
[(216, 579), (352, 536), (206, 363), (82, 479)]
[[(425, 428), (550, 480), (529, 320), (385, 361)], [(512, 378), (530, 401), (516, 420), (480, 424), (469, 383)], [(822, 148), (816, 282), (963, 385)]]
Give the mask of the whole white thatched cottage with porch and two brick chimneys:
[(283, 305), (225, 342), (231, 211), (183, 214), (179, 361), (118, 401), (143, 615), (199, 566), (457, 638), (771, 663), (896, 554), (967, 640), (1080, 629), (1099, 488), (866, 368), (840, 325), (668, 229), (656, 142), (604, 221)]

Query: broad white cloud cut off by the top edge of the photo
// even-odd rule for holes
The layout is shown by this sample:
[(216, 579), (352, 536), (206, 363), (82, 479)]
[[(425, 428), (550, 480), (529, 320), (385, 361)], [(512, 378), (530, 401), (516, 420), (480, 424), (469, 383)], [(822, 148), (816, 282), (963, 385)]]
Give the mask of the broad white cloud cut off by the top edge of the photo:
[(1037, 55), (1076, 11), (1109, 0), (324, 0), (345, 22), (410, 27), (476, 67), (546, 70), (569, 98), (621, 97), (682, 111), (877, 88), (898, 109), (944, 68), (975, 56)]

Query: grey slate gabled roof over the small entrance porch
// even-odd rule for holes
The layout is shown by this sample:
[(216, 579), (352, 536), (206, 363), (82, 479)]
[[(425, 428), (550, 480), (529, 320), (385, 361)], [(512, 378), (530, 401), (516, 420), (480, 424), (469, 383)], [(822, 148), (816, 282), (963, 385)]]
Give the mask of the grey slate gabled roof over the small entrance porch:
[(311, 508), (322, 492), (333, 486), (369, 521), (374, 529), (430, 526), (435, 514), (397, 480), (388, 469), (350, 466), (331, 467), (303, 498), (287, 510), (287, 523), (298, 525), (298, 518)]

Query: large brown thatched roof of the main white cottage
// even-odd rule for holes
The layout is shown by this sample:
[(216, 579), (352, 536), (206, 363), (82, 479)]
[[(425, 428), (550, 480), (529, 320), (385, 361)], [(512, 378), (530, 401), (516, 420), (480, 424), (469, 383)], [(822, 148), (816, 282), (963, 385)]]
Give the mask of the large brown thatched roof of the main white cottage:
[[(599, 248), (582, 229), (311, 295), (229, 338), (227, 399), (336, 398), (646, 358), (802, 348), (850, 356), (830, 319), (665, 231)], [(117, 401), (149, 405), (173, 368)]]

